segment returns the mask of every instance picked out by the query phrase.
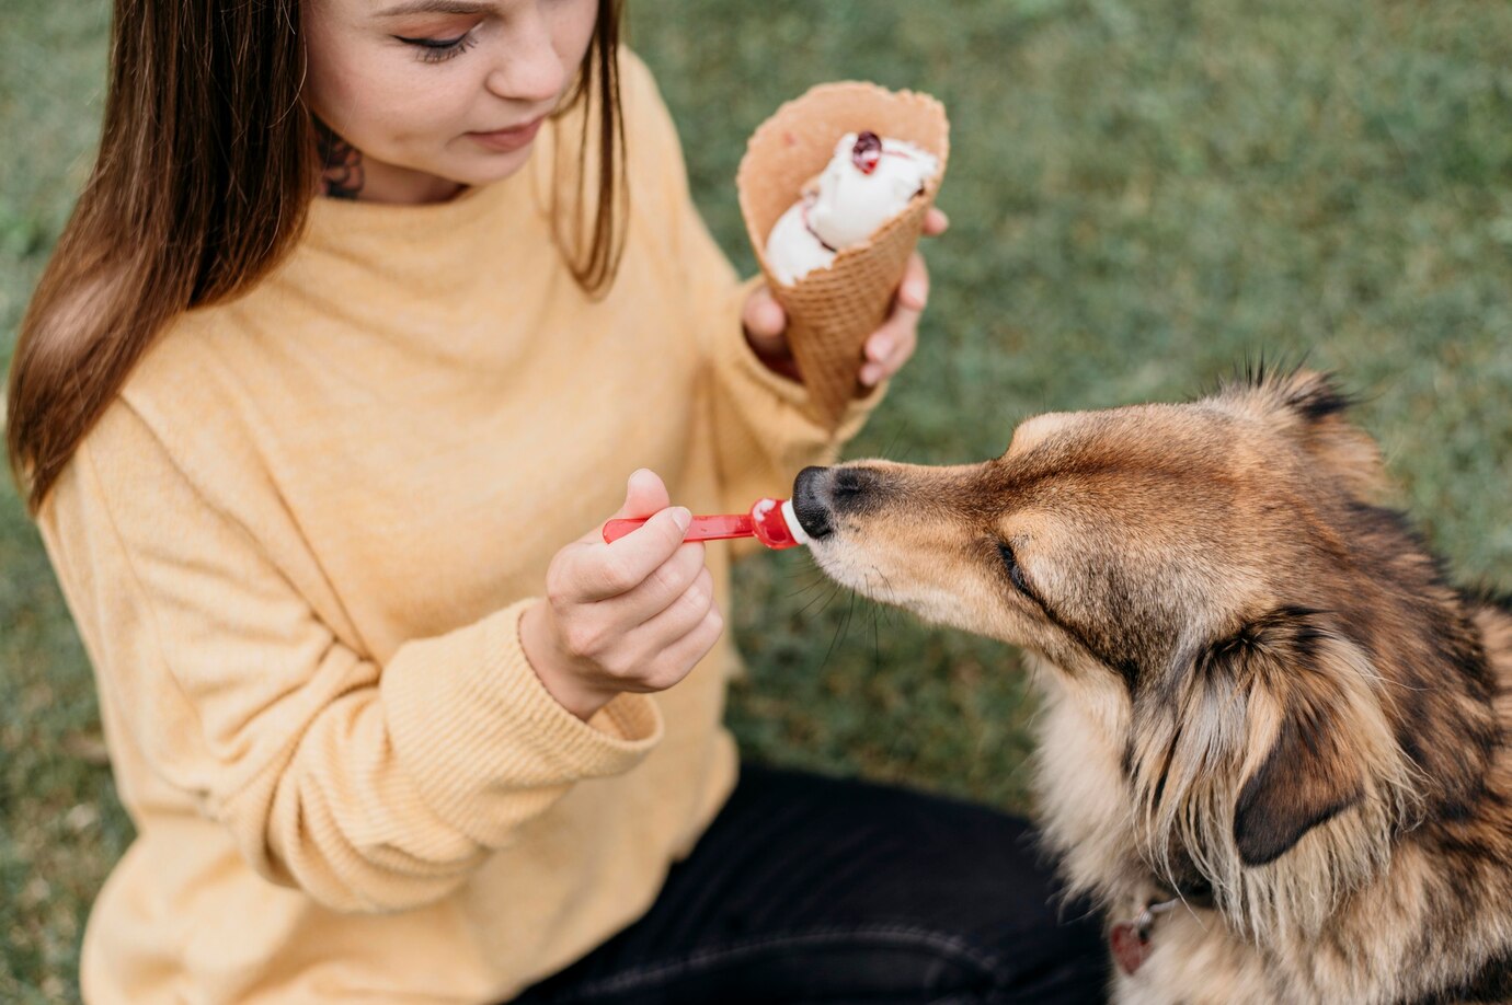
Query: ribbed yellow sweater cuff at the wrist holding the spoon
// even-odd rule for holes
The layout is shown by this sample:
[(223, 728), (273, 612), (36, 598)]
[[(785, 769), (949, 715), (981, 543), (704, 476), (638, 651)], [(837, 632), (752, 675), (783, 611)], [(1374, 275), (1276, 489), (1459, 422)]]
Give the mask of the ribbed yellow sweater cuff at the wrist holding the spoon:
[(497, 848), (575, 781), (624, 774), (661, 741), (656, 703), (620, 694), (584, 722), (520, 647), (522, 600), (482, 621), (404, 645), (380, 692), (399, 762), (435, 813)]

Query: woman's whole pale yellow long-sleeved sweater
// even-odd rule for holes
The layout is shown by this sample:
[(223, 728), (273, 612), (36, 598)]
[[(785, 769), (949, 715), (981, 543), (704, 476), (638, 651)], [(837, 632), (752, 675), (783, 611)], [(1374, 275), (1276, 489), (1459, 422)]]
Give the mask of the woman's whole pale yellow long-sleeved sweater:
[(748, 286), (623, 73), (606, 299), (553, 249), (550, 131), (446, 204), (318, 201), (271, 278), (165, 332), (44, 506), (138, 828), (86, 1000), (496, 1002), (640, 916), (727, 796), (727, 642), (585, 724), (516, 629), (635, 467), (736, 511), (839, 438), (745, 346)]

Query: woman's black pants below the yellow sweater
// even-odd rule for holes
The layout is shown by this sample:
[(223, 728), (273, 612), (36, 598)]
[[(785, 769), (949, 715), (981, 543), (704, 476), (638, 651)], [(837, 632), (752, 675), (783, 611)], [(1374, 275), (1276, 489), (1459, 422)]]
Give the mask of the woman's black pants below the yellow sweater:
[(1012, 816), (742, 765), (650, 911), (520, 1005), (1101, 1002), (1099, 922)]

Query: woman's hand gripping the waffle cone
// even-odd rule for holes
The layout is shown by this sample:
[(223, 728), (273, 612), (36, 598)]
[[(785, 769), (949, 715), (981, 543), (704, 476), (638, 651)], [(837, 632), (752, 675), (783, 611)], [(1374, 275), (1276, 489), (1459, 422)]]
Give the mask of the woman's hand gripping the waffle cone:
[[(947, 227), (950, 227), (950, 219), (931, 206), (924, 216), (924, 236), (943, 234)], [(903, 274), (903, 283), (898, 284), (892, 313), (881, 323), (881, 328), (866, 337), (865, 360), (857, 375), (862, 385), (880, 384), (909, 361), (919, 340), (919, 314), (924, 313), (924, 304), (928, 298), (930, 274), (924, 267), (924, 258), (915, 251)], [(745, 326), (745, 340), (767, 364), (767, 369), (798, 379), (798, 367), (792, 360), (792, 349), (788, 346), (788, 314), (782, 310), (782, 304), (773, 298), (771, 290), (761, 286), (751, 292), (741, 311), (741, 323)]]

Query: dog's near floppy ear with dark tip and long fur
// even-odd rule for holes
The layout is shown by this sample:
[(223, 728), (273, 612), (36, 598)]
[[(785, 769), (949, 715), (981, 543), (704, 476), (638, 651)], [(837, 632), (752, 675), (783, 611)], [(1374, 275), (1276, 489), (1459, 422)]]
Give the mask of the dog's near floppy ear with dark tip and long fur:
[(1232, 673), (1247, 686), (1250, 736), (1261, 747), (1275, 738), (1263, 756), (1246, 760), (1234, 806), (1240, 860), (1263, 866), (1364, 796), (1350, 701), (1373, 671), (1317, 612), (1294, 608), (1246, 626), (1213, 647), (1208, 660), (1208, 673)]

